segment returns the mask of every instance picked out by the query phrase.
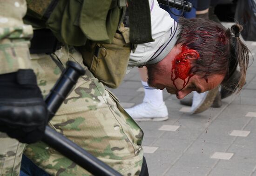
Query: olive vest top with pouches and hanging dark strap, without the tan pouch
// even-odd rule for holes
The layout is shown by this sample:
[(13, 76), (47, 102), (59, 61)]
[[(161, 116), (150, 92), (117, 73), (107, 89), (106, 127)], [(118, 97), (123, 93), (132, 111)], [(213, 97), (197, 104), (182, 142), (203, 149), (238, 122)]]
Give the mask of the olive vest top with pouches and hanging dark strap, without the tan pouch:
[[(50, 29), (62, 43), (81, 46), (87, 39), (110, 44), (121, 24), (126, 0), (27, 0), (25, 23)], [(148, 0), (128, 0), (130, 41), (153, 41)]]

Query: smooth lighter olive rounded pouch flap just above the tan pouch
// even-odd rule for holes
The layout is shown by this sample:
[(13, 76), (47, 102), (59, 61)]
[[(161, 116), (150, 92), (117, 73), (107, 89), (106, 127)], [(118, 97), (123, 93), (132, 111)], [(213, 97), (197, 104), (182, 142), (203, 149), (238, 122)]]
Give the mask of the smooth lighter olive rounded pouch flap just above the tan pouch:
[(88, 39), (111, 43), (118, 28), (121, 14), (118, 6), (109, 9), (112, 2), (115, 1), (84, 0), (80, 16), (80, 26)]

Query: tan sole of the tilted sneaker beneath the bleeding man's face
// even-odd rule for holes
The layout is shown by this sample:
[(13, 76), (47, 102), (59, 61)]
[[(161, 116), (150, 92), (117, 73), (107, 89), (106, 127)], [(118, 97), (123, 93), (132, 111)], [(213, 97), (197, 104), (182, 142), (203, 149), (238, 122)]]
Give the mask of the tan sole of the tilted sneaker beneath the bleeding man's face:
[(207, 110), (212, 105), (218, 91), (218, 87), (210, 90), (205, 99), (202, 101), (201, 105), (192, 111), (191, 114), (202, 113), (203, 111)]

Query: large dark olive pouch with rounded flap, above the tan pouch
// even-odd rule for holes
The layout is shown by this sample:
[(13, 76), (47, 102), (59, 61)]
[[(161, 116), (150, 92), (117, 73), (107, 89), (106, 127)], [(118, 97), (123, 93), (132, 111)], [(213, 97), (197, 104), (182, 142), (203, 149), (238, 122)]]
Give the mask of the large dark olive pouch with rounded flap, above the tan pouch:
[(82, 46), (87, 39), (111, 43), (124, 7), (115, 0), (59, 0), (47, 19), (59, 41)]

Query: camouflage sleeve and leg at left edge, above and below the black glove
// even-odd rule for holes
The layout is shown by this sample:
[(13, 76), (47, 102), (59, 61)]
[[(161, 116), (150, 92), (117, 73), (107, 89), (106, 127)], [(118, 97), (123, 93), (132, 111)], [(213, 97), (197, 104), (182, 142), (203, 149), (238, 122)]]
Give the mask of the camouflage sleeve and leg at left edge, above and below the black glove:
[[(26, 1), (0, 0), (0, 74), (31, 68), (28, 40), (33, 28), (22, 22), (26, 10)], [(0, 175), (18, 176), (25, 144), (1, 132), (0, 144)]]

